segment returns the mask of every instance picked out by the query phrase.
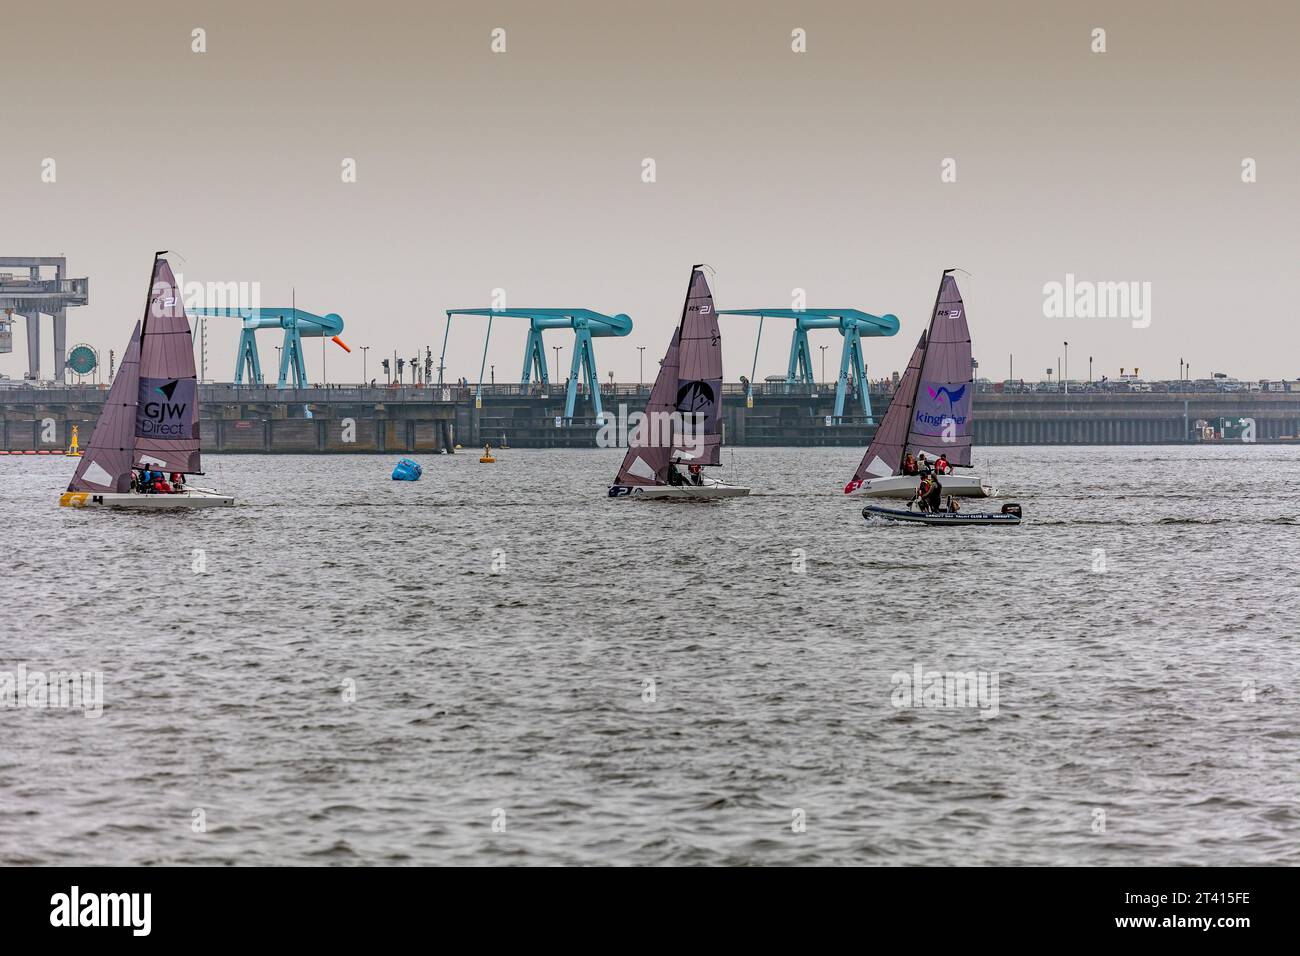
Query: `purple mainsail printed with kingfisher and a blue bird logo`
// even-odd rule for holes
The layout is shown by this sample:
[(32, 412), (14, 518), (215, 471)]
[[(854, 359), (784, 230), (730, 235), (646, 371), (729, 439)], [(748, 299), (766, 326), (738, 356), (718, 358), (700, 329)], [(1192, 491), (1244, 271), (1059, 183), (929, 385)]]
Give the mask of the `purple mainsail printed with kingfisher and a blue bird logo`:
[(935, 315), (930, 320), (930, 342), (913, 402), (907, 451), (924, 451), (931, 459), (944, 454), (949, 464), (970, 466), (974, 397), (966, 306), (957, 280), (945, 272)]

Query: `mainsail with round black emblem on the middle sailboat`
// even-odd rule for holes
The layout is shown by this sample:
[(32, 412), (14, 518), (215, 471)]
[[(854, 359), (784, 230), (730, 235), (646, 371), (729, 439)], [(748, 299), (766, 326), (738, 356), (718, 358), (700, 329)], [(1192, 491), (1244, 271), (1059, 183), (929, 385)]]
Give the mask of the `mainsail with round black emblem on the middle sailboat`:
[(682, 423), (673, 455), (689, 464), (722, 463), (723, 337), (708, 280), (696, 265), (681, 311), (676, 411)]

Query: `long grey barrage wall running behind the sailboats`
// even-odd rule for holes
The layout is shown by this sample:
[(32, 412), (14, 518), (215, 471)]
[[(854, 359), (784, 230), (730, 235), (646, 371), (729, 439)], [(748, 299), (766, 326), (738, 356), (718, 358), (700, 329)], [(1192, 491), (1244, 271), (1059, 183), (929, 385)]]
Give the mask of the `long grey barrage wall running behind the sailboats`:
[[(649, 385), (602, 390), (618, 428), (645, 407)], [(723, 386), (725, 444), (866, 447), (876, 425), (866, 416), (835, 416), (833, 385)], [(105, 388), (0, 390), (0, 450), (66, 447), (72, 427), (82, 441), (103, 408)], [(566, 418), (567, 390), (542, 385), (332, 386), (277, 389), (200, 386), (203, 447), (214, 453), (430, 453), (456, 444), (512, 447), (595, 447), (599, 423)], [(872, 393), (883, 408), (889, 393)], [(1249, 421), (1256, 442), (1297, 441), (1297, 392), (1006, 393), (979, 392), (975, 444), (1161, 445), (1204, 440), (1199, 421)], [(1234, 432), (1236, 434), (1236, 432)]]

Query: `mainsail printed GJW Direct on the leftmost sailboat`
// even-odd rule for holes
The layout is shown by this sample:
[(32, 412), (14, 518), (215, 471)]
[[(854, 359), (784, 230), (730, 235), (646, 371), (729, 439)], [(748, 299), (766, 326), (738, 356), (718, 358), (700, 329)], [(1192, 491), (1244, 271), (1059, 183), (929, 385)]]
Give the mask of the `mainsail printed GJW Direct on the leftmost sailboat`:
[(150, 302), (140, 332), (134, 463), (188, 475), (203, 471), (194, 339), (181, 290), (161, 254), (153, 260)]

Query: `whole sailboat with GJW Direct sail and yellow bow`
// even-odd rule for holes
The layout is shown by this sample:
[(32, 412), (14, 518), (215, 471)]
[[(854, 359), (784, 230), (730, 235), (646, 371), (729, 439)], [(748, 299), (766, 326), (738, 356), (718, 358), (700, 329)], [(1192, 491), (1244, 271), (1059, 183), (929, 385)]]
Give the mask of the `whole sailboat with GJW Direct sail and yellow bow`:
[(95, 423), (64, 507), (179, 509), (234, 505), (234, 498), (186, 484), (173, 494), (131, 490), (136, 468), (202, 475), (199, 382), (190, 320), (172, 267), (159, 252), (144, 308)]

